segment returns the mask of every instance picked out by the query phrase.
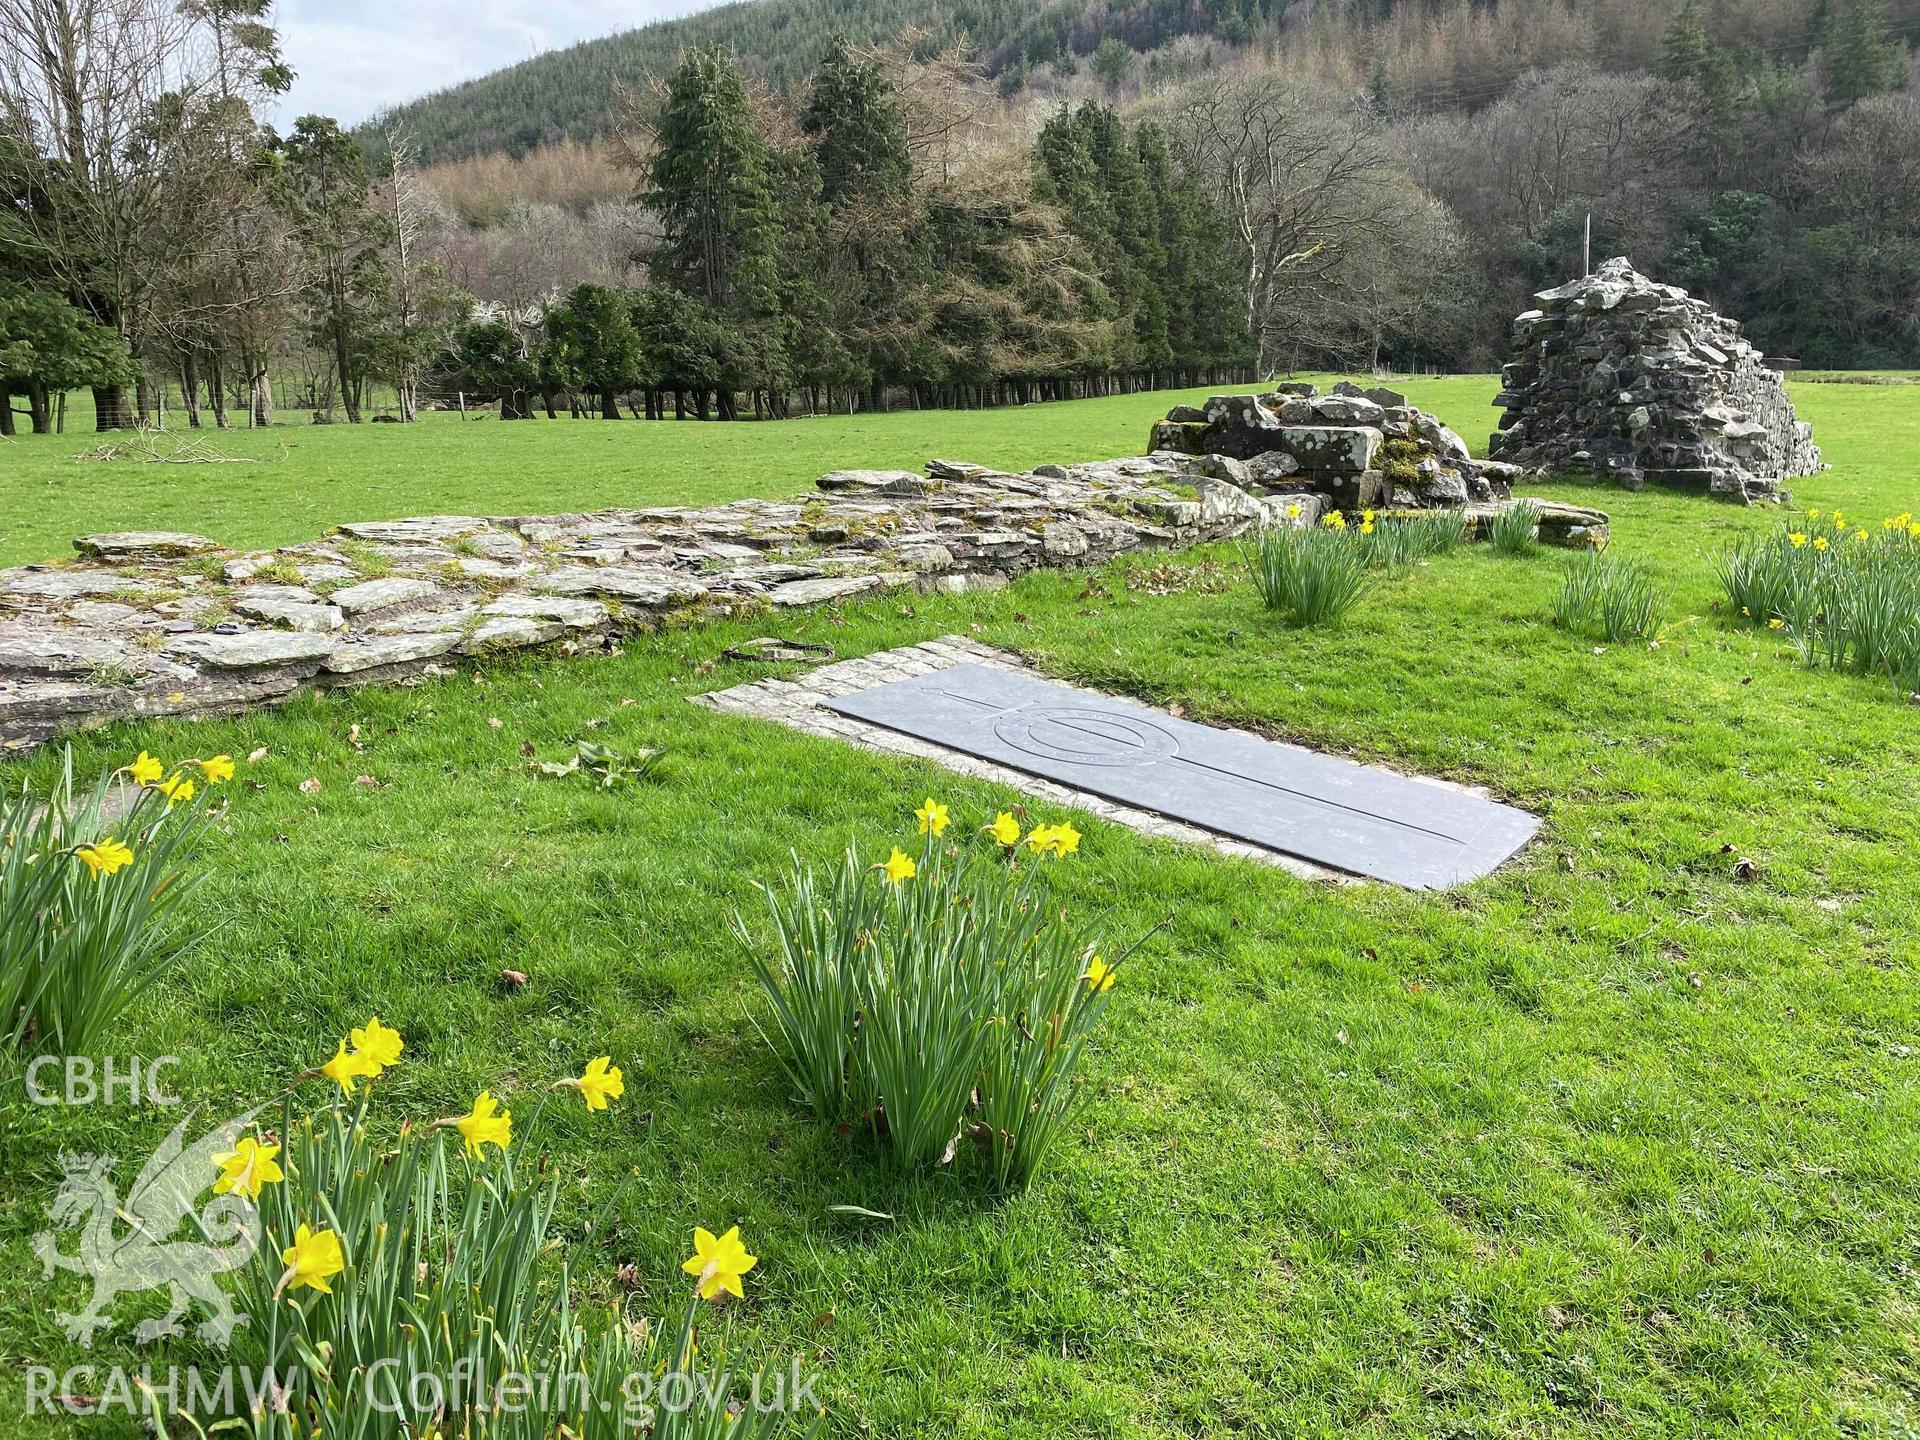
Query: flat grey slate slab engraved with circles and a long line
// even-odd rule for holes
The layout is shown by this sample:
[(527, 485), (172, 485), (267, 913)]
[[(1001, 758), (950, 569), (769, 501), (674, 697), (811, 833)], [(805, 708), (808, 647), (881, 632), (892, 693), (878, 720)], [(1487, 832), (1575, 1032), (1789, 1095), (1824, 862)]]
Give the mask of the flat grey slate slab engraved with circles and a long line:
[(1476, 879), (1540, 828), (1524, 810), (1432, 780), (979, 664), (895, 680), (826, 707), (1409, 889)]

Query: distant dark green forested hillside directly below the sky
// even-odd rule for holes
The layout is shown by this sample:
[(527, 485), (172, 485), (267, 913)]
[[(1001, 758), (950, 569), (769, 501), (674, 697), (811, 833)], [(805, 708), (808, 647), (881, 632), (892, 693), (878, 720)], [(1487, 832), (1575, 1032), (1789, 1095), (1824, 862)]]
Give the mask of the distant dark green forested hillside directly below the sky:
[[(1242, 42), (1288, 0), (741, 0), (684, 19), (584, 40), (430, 94), (394, 111), (428, 163), (599, 134), (614, 86), (662, 75), (689, 44), (724, 44), (776, 88), (810, 75), (833, 36), (893, 40), (924, 31), (929, 46), (964, 40), (989, 73), (1091, 56), (1104, 36), (1135, 52), (1181, 35)], [(1068, 61), (1071, 63), (1071, 61)], [(361, 140), (378, 150), (378, 125)]]

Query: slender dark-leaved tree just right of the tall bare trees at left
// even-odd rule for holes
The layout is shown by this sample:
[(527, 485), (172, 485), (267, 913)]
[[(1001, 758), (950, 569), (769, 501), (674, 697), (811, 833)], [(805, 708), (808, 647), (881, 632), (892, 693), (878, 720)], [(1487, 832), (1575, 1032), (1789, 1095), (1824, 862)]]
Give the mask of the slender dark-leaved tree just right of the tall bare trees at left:
[(309, 261), (313, 338), (332, 361), (348, 422), (361, 420), (365, 357), (388, 290), (392, 225), (371, 207), (359, 148), (324, 115), (301, 115), (284, 146), (286, 196)]

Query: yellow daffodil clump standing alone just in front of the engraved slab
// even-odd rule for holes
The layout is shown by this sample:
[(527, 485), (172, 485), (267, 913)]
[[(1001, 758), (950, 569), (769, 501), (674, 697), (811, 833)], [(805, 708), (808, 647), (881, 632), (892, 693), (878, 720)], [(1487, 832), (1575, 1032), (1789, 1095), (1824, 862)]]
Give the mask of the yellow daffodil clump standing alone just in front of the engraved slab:
[(829, 876), (795, 862), (768, 889), (774, 948), (749, 947), (766, 1027), (795, 1094), (904, 1167), (977, 1164), (1000, 1188), (1044, 1164), (1077, 1092), (1071, 1077), (1119, 979), (1048, 897), (1079, 854), (1071, 820), (1025, 828), (1012, 810), (947, 839), (927, 797), (918, 847), (891, 845)]

